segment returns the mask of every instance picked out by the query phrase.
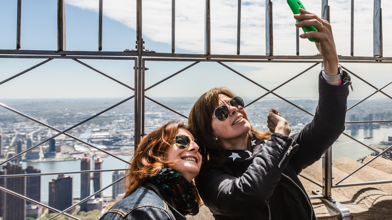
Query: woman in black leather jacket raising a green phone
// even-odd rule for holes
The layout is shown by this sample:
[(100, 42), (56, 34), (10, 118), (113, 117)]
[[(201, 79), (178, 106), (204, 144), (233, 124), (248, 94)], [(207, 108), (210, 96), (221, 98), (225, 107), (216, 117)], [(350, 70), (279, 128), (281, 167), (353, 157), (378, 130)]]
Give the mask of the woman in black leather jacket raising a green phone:
[(213, 88), (193, 105), (188, 125), (206, 146), (205, 163), (195, 178), (216, 219), (316, 219), (298, 174), (319, 160), (344, 131), (350, 77), (338, 64), (331, 25), (305, 10), (297, 27), (314, 26), (302, 38), (316, 38), (323, 56), (315, 117), (291, 135), (287, 121), (270, 109), (269, 131), (250, 125), (243, 100), (226, 88)]

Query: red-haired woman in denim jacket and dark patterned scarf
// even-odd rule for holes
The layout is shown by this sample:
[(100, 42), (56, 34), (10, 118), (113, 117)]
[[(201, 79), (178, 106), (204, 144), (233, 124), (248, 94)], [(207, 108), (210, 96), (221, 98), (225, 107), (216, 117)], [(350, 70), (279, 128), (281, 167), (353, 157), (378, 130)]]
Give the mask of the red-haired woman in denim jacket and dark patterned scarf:
[(186, 219), (201, 200), (192, 179), (204, 146), (183, 123), (169, 122), (144, 136), (125, 174), (126, 193), (100, 219)]

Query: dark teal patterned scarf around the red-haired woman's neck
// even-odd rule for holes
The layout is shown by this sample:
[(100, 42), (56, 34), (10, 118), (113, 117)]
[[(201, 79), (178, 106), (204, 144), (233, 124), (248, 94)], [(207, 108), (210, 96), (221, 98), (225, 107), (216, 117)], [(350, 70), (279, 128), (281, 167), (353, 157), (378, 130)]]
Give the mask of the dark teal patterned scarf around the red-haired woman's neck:
[(176, 209), (181, 214), (195, 215), (199, 213), (199, 204), (196, 201), (197, 189), (185, 177), (170, 168), (163, 168), (160, 173), (151, 176), (150, 180), (162, 187), (173, 199)]

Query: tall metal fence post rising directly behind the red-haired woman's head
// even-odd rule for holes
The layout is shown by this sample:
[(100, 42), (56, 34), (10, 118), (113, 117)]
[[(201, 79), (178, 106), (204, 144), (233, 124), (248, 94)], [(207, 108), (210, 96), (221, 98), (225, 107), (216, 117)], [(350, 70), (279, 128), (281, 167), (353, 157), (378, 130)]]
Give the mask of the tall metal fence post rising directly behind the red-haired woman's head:
[[(138, 65), (136, 67), (137, 74), (135, 76), (135, 150), (140, 143), (142, 136), (142, 52), (143, 52), (143, 38), (142, 38), (142, 0), (136, 2), (136, 37), (137, 37), (137, 51), (138, 51)], [(136, 72), (135, 72), (136, 73)]]

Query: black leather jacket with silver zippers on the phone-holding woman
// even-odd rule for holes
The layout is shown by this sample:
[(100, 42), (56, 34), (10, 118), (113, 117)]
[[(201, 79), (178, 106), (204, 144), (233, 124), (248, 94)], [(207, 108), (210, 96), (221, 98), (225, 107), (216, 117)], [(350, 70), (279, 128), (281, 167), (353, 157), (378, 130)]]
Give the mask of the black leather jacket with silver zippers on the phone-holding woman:
[(203, 164), (195, 182), (216, 219), (316, 219), (297, 175), (344, 131), (351, 81), (347, 72), (342, 79), (341, 85), (330, 85), (320, 73), (316, 114), (301, 132), (291, 137), (273, 133), (265, 144), (253, 146), (241, 167)]

